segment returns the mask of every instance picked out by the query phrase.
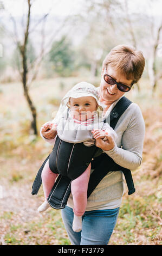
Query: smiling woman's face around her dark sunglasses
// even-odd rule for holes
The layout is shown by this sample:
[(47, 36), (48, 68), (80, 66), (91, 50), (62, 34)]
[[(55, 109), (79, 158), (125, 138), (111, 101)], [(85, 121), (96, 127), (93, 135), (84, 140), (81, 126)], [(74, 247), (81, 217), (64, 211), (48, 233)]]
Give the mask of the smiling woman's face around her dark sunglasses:
[[(124, 75), (121, 75), (119, 72), (115, 70), (115, 68), (112, 68), (111, 66), (108, 66), (106, 74), (113, 77), (116, 82), (120, 82), (122, 84), (125, 84), (126, 86), (131, 87), (132, 80), (127, 80), (127, 78)], [(101, 78), (100, 83), (100, 101), (107, 101), (107, 103), (113, 103), (114, 101), (118, 100), (122, 95), (124, 95), (124, 92), (121, 92), (116, 84), (108, 84), (105, 82), (105, 80)]]

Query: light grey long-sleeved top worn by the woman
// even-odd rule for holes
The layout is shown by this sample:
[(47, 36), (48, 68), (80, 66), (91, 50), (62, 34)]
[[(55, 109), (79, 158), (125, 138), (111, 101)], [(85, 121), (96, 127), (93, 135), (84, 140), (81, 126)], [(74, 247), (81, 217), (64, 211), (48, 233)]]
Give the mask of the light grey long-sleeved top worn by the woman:
[[(105, 116), (111, 112), (120, 99), (108, 108)], [(115, 126), (115, 132), (118, 135), (115, 147), (112, 150), (105, 151), (105, 153), (122, 167), (131, 170), (137, 169), (142, 162), (145, 123), (141, 110), (136, 103), (129, 105), (121, 115)], [(44, 139), (43, 136), (42, 138)], [(51, 144), (54, 143), (54, 139), (45, 140)], [(124, 180), (122, 172), (109, 172), (89, 196), (86, 211), (118, 208), (121, 205), (123, 193)], [(73, 208), (72, 194), (70, 194), (67, 205)]]

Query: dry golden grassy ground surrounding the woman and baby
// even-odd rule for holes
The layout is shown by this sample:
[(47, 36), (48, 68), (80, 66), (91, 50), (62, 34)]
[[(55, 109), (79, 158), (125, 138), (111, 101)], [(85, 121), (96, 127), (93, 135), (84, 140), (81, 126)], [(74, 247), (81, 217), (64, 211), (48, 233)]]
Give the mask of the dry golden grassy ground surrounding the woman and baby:
[[(35, 81), (30, 90), (37, 107), (38, 129), (51, 119), (61, 97), (76, 82), (87, 78), (63, 78)], [(94, 82), (89, 80), (88, 82)], [(95, 81), (99, 84), (99, 78)], [(161, 245), (162, 200), (162, 117), (161, 87), (152, 97), (147, 80), (141, 80), (140, 93), (128, 97), (138, 103), (146, 124), (142, 165), (133, 172), (136, 192), (124, 194), (118, 222), (110, 245)], [(51, 150), (40, 137), (30, 133), (30, 112), (20, 83), (2, 84), (0, 94), (0, 185), (4, 197), (0, 206), (0, 244), (70, 245), (60, 210), (38, 214), (43, 190), (31, 196), (31, 185), (38, 168)], [(3, 242), (2, 242), (3, 240)]]

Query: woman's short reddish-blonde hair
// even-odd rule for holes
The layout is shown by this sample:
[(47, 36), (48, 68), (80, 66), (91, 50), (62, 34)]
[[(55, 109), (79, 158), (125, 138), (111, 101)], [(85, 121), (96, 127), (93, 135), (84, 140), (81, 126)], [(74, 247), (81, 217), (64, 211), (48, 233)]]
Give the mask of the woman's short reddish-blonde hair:
[(108, 65), (125, 75), (127, 80), (137, 83), (144, 71), (145, 58), (142, 52), (135, 50), (133, 46), (118, 45), (103, 60), (102, 72)]

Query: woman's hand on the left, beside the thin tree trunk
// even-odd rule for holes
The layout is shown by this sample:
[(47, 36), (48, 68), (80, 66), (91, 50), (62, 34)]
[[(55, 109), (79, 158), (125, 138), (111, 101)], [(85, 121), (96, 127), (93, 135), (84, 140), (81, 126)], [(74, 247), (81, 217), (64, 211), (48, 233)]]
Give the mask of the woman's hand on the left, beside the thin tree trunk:
[(56, 137), (56, 124), (47, 122), (42, 125), (41, 132), (44, 138), (46, 139), (54, 139)]

